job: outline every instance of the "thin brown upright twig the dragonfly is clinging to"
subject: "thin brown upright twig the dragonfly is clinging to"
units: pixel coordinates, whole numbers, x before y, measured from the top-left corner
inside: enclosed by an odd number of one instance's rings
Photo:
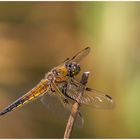
[[[89,72],[84,72],[82,75],[81,81],[80,81],[81,84],[80,84],[78,91],[77,91],[79,93],[79,96],[76,99],[77,102],[75,102],[71,108],[71,113],[70,113],[70,116],[69,116],[69,119],[67,122],[65,133],[64,133],[64,139],[70,138],[70,135],[72,133],[74,122],[75,122],[75,119],[77,117],[77,112],[78,112],[79,107],[80,107],[80,98],[81,98],[81,96],[83,96],[84,89],[85,89],[85,86],[86,86],[87,81],[88,81],[88,77],[89,77]]]

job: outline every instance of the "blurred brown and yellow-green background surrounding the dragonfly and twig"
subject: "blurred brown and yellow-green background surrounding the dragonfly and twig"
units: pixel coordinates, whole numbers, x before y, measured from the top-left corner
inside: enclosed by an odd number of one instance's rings
[[[72,138],[140,138],[139,2],[0,2],[0,109],[86,46],[88,85],[116,106],[81,107]],[[0,118],[0,138],[63,138],[65,125],[36,100]]]

